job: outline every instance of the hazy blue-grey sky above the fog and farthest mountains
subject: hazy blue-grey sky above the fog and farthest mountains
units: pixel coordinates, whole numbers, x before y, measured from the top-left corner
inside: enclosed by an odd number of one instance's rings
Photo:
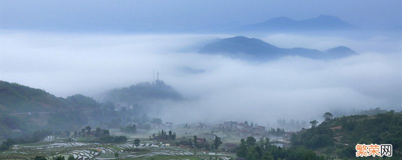
[[[2,29],[203,30],[287,16],[338,16],[365,28],[402,25],[401,0],[1,0]]]

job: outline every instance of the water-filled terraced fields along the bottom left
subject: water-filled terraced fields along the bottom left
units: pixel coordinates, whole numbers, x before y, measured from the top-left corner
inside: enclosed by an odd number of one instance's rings
[[[115,153],[119,156],[116,157]],[[75,159],[230,159],[234,154],[206,152],[177,146],[166,146],[161,142],[143,141],[137,147],[133,142],[88,143],[66,142],[60,139],[46,140],[38,144],[14,145],[8,151],[0,152],[0,159],[33,159],[37,155],[51,159],[73,155]]]

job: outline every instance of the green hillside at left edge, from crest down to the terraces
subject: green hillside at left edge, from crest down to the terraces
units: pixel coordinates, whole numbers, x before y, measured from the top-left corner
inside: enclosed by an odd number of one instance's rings
[[[37,129],[79,129],[101,114],[100,106],[81,94],[56,97],[42,89],[0,80],[0,139]]]

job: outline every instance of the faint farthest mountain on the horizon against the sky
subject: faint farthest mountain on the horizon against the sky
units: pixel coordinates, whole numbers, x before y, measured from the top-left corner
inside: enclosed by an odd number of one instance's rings
[[[240,31],[317,31],[317,30],[342,30],[356,29],[352,25],[336,16],[320,15],[305,20],[293,20],[287,17],[276,17],[264,22],[244,25]]]

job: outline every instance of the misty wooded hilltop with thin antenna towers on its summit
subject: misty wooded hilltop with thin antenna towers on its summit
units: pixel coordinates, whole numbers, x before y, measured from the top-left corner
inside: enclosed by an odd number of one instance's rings
[[[128,102],[130,104],[142,103],[149,100],[181,100],[183,97],[170,85],[162,80],[155,80],[154,83],[141,82],[129,87],[115,88],[103,95],[106,101]]]

